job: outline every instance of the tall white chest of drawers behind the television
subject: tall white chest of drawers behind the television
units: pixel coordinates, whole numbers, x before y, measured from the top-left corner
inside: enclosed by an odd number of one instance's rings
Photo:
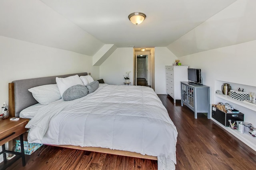
[[[174,103],[181,99],[180,82],[188,81],[188,66],[165,66],[166,94],[169,94]]]

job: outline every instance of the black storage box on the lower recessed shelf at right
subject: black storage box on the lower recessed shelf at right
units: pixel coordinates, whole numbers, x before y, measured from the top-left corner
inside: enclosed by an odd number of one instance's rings
[[[215,111],[216,110],[216,111]],[[236,109],[232,111],[238,111]],[[244,113],[224,113],[216,107],[212,106],[212,118],[220,122],[224,126],[229,126],[229,121],[233,123],[234,121],[244,121]]]

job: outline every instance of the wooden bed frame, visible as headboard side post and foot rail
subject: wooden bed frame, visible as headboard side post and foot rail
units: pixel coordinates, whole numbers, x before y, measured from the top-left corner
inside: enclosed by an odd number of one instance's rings
[[[14,98],[13,82],[9,83],[9,115],[10,117],[15,117],[15,98]],[[9,143],[9,144],[13,145],[12,143]],[[157,160],[157,156],[142,155],[140,153],[123,151],[123,150],[114,150],[114,149],[100,148],[100,147],[80,147],[80,146],[73,146],[73,145],[52,145],[52,146]]]

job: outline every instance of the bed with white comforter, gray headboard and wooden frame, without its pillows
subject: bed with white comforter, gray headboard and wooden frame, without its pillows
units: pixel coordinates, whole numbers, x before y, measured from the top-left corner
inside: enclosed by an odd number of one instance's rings
[[[145,86],[102,84],[82,98],[38,106],[28,89],[56,84],[56,77],[9,83],[10,116],[37,106],[28,141],[72,149],[158,160],[175,169],[177,131],[155,92]],[[78,73],[86,76],[87,73]],[[47,124],[47,125],[46,125]]]

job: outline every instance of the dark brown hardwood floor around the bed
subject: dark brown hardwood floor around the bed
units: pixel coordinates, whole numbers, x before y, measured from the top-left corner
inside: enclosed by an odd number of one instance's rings
[[[177,127],[176,170],[255,170],[256,152],[224,131],[206,115],[176,104],[167,95],[158,95]],[[157,161],[42,146],[26,155],[26,166],[21,159],[8,170],[156,170]]]

